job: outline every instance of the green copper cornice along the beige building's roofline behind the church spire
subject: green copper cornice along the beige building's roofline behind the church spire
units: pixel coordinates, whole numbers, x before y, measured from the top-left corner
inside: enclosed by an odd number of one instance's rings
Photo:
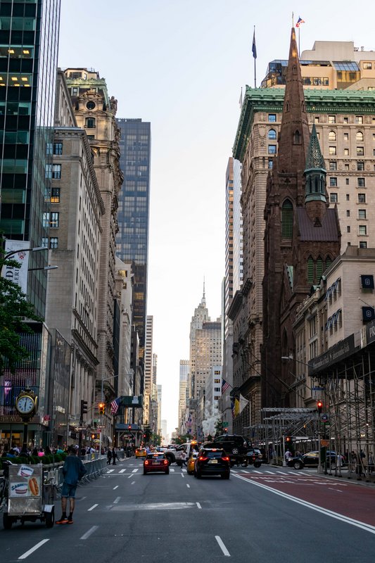
[[[240,162],[250,139],[254,115],[258,111],[281,113],[284,88],[250,88],[246,86],[245,99],[234,141],[233,156]],[[375,115],[374,90],[304,89],[307,113],[361,113]]]

